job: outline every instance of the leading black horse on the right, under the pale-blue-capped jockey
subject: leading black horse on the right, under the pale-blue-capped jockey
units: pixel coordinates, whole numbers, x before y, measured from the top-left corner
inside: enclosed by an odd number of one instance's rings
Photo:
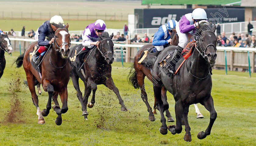
[[[154,86],[154,93],[158,110],[161,113],[162,126],[159,129],[161,134],[167,134],[167,128],[172,134],[181,133],[181,118],[183,116],[186,131],[183,139],[191,141],[190,127],[187,120],[189,106],[201,103],[210,112],[210,123],[205,132],[199,132],[197,137],[203,139],[210,135],[212,125],[217,117],[211,96],[212,78],[209,71],[209,65],[213,67],[217,57],[215,29],[215,25],[211,27],[209,24],[199,27],[198,36],[200,38],[195,37],[197,38],[197,43],[196,47],[192,48],[193,54],[187,58],[180,71],[173,78],[166,75],[166,70],[159,66],[158,63],[165,59],[176,47],[170,46],[168,49],[166,48],[156,58],[152,74],[155,74],[153,78],[158,81]],[[169,108],[169,104],[164,98],[161,99],[162,85],[172,93],[175,99],[176,125],[168,127],[166,126],[163,112]]]

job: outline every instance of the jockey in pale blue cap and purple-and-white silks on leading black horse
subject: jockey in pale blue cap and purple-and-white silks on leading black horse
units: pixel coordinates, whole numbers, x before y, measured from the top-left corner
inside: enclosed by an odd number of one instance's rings
[[[176,31],[179,36],[179,44],[172,56],[169,57],[166,62],[168,65],[167,69],[170,73],[175,74],[175,65],[181,59],[181,53],[183,48],[187,45],[188,35],[194,35],[196,33],[196,29],[199,28],[199,25],[203,25],[204,23],[208,23],[207,15],[204,9],[197,8],[194,9],[192,13],[185,14],[180,21],[179,25],[176,26]]]

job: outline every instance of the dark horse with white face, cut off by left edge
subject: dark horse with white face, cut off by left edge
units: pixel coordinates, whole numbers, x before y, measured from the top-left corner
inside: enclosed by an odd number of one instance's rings
[[[5,52],[12,54],[11,41],[7,34],[0,34],[0,78],[2,77],[5,69]]]

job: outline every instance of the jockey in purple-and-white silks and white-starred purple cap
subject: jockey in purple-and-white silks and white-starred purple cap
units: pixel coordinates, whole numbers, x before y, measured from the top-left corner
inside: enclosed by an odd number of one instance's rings
[[[86,48],[93,48],[94,45],[99,44],[98,37],[106,29],[106,24],[103,20],[98,19],[94,23],[89,24],[82,35],[82,45]],[[84,49],[83,49],[84,50]]]

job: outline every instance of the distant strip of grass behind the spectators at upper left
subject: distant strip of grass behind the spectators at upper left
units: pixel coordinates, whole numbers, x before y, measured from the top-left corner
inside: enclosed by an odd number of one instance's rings
[[[3,31],[10,31],[13,29],[14,31],[21,31],[23,26],[26,26],[25,31],[30,31],[33,29],[37,30],[39,26],[41,26],[46,20],[1,20],[0,29]],[[84,30],[87,25],[90,23],[94,23],[95,20],[64,20],[64,23],[69,23],[69,30]],[[105,21],[107,28],[112,29],[123,29],[124,23],[127,21]]]

